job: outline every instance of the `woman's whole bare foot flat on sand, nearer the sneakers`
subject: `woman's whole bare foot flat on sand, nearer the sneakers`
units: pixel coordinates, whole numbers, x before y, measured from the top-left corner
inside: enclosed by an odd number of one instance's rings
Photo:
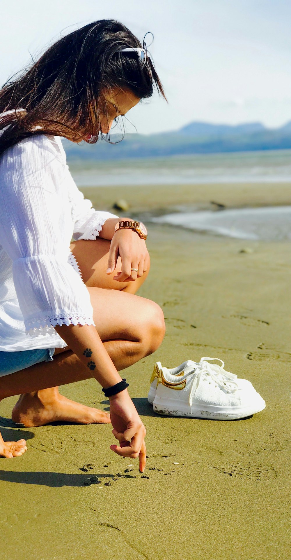
[[[66,399],[59,394],[58,388],[20,395],[11,417],[13,422],[24,424],[26,427],[44,426],[50,422],[110,423],[108,412]]]

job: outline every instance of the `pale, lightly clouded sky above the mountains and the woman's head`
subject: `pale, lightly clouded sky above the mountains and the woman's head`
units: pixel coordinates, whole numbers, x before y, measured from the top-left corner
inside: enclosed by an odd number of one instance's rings
[[[291,120],[288,0],[0,0],[0,82],[64,35],[113,18],[149,51],[168,103],[155,93],[125,119],[128,132],[176,130],[194,120],[270,128]],[[151,40],[151,36],[147,35]]]

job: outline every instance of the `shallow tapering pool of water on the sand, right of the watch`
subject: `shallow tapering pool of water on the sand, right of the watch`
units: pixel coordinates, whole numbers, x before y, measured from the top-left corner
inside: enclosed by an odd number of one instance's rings
[[[152,222],[246,240],[291,240],[291,206],[175,212]]]

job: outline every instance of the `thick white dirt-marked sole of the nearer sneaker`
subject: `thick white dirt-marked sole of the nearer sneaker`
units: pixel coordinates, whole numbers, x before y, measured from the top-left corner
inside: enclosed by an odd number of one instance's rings
[[[156,397],[152,406],[157,414],[162,414],[163,416],[204,418],[207,420],[238,420],[239,418],[246,418],[247,416],[252,416],[252,414],[261,412],[261,410],[264,410],[266,403],[262,399],[257,405],[253,404],[252,406],[240,408],[222,408],[215,405],[193,404],[192,412],[190,412],[189,405],[183,406],[183,403],[176,400],[169,402],[169,400],[165,401],[164,399]]]

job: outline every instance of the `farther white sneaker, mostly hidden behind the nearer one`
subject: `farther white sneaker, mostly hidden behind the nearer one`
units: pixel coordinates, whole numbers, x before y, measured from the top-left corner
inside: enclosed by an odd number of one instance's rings
[[[156,396],[156,387],[158,385],[158,379],[160,377],[161,370],[167,371],[170,375],[174,375],[176,377],[182,377],[183,375],[188,374],[190,371],[193,371],[195,367],[201,365],[201,362],[205,360],[218,360],[223,363],[219,358],[202,358],[200,362],[193,362],[193,360],[188,360],[187,362],[180,363],[179,366],[168,368],[161,365],[161,362],[156,362],[154,365],[154,370],[152,371],[151,380],[150,380],[150,390],[147,395],[147,400],[150,404],[152,404],[155,400]],[[223,363],[224,366],[224,363]],[[240,389],[247,389],[249,391],[255,391],[254,386],[251,384],[250,381],[247,379],[241,379],[237,377],[235,374],[231,374],[230,371],[226,371],[223,369],[223,366],[217,366],[215,368],[216,375],[220,377],[222,381],[228,381],[230,379],[236,380],[237,385]],[[211,366],[214,371],[214,364]]]

